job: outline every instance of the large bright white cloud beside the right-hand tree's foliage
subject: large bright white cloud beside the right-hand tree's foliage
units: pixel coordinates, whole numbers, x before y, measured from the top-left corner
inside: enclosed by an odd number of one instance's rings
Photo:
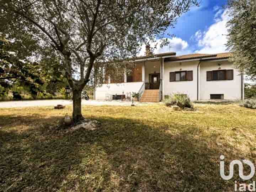
[[[216,13],[215,23],[212,24],[206,31],[197,32],[193,36],[198,37],[199,50],[196,52],[200,53],[220,53],[226,51],[226,35],[227,28],[226,23],[229,21],[228,11],[225,10],[219,17],[219,11]],[[201,35],[201,37],[200,37]]]

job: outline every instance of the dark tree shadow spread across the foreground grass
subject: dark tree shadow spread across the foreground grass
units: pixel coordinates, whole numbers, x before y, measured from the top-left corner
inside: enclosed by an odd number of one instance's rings
[[[201,133],[196,127],[163,122],[159,129],[128,118],[97,120],[101,127],[94,131],[56,132],[48,124],[21,132],[0,130],[1,190],[232,191],[232,182],[219,175],[225,149],[195,137]]]

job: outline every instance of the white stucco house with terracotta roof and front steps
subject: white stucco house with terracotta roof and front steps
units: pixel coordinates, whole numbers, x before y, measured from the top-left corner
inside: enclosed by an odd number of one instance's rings
[[[141,102],[159,102],[171,94],[186,94],[191,100],[243,100],[244,77],[229,62],[232,53],[176,56],[167,52],[137,57],[132,74],[123,81],[108,77],[95,89],[95,99],[128,97],[139,92]]]

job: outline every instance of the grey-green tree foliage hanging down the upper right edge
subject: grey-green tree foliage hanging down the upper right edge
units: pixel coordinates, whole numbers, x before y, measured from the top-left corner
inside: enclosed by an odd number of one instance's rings
[[[231,61],[241,72],[256,79],[256,1],[230,0],[228,49],[234,53]]]

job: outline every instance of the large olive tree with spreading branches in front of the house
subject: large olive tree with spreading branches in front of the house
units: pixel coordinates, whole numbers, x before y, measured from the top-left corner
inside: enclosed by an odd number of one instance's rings
[[[135,56],[142,43],[162,38],[193,5],[197,0],[2,0],[0,24],[13,38],[31,34],[41,49],[60,58],[78,122],[81,91],[96,61]]]

